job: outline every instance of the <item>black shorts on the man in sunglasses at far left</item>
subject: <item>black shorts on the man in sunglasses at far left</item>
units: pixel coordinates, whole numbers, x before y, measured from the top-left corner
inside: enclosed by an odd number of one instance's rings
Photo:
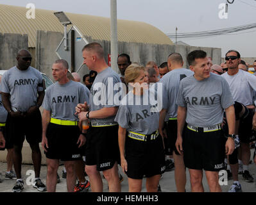
[[[13,118],[8,113],[5,126],[6,149],[13,145],[22,146],[25,136],[31,145],[42,141],[42,117],[37,109],[30,117]]]

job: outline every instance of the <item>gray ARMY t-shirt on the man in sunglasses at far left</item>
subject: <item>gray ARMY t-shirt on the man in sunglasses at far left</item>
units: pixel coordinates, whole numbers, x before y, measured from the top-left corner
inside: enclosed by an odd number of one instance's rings
[[[33,67],[27,70],[12,67],[4,72],[0,86],[1,92],[10,94],[11,106],[22,112],[36,105],[37,92],[43,90],[42,74]]]

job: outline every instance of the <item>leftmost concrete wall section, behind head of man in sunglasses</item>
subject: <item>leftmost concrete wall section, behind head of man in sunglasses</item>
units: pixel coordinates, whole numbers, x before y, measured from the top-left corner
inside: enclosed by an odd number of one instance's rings
[[[8,70],[16,65],[19,49],[28,49],[28,35],[0,33],[0,70]]]

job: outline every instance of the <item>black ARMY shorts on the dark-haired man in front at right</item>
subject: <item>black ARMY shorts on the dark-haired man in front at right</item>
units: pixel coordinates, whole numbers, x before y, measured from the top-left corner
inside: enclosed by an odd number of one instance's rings
[[[197,133],[185,127],[182,143],[185,167],[213,172],[223,170],[225,142],[222,130]]]

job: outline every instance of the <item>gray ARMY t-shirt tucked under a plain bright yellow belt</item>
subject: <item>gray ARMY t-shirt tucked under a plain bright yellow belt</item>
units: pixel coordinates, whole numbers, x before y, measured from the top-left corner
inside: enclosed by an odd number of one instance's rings
[[[78,103],[89,102],[89,89],[81,83],[69,81],[64,85],[56,82],[46,89],[42,107],[51,111],[51,117],[60,120],[78,121],[74,116]]]

